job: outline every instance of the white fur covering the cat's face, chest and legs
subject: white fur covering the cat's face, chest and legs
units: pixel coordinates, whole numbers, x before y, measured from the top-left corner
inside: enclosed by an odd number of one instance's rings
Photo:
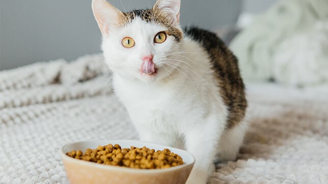
[[[244,128],[224,132],[227,107],[204,49],[189,38],[177,43],[173,36],[162,44],[153,43],[164,30],[137,18],[103,38],[104,56],[114,72],[116,95],[140,139],[188,150],[196,163],[187,183],[206,183],[215,155],[225,156],[223,160],[236,157]],[[130,49],[121,45],[127,36],[135,40]],[[165,55],[168,52],[175,54]],[[140,73],[142,58],[149,54],[154,54],[156,76]],[[167,59],[174,59],[179,70],[167,65]],[[220,142],[228,151],[222,150]]]

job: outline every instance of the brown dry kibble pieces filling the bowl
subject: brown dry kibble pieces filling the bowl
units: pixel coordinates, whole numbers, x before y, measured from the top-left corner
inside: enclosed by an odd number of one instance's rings
[[[121,148],[119,144],[88,148],[83,154],[80,150],[72,150],[67,156],[105,165],[123,166],[138,169],[162,169],[183,164],[182,158],[170,149],[149,149],[146,146],[139,148]]]

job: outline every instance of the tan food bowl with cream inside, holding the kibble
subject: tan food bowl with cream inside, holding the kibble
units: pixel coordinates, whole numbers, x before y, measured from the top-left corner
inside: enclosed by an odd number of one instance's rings
[[[98,145],[119,144],[122,148],[131,145],[146,146],[150,149],[170,149],[183,159],[183,164],[166,169],[132,169],[78,160],[66,155],[71,150],[85,151],[87,148],[97,148]],[[137,140],[105,140],[81,141],[68,143],[60,150],[65,171],[70,183],[185,183],[195,163],[195,158],[189,152],[174,147]]]

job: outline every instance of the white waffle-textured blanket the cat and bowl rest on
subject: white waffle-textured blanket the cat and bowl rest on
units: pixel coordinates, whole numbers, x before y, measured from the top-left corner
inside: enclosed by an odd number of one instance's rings
[[[0,183],[68,183],[62,145],[138,139],[101,60],[94,55],[0,72]],[[208,182],[328,183],[327,93],[247,87],[250,128],[238,160],[218,164]]]

